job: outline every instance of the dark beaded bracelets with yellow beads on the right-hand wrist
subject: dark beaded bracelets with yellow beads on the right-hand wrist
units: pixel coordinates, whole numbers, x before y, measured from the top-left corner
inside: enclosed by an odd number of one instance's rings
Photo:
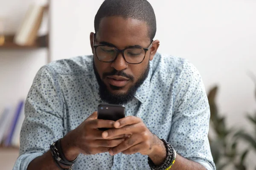
[[[154,162],[148,157],[148,165],[151,170],[169,170],[172,165],[175,163],[176,151],[166,140],[161,139],[166,147],[166,159],[163,164],[156,166]]]

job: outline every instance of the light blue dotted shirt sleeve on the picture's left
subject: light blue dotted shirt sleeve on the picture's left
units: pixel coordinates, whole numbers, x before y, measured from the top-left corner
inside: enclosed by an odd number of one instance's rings
[[[35,76],[25,102],[20,131],[20,154],[13,170],[26,170],[29,163],[63,137],[63,107],[55,77],[44,66]]]

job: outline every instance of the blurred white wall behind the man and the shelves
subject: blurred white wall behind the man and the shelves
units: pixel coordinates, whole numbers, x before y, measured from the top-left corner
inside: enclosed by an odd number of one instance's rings
[[[35,1],[0,0],[0,16],[7,18],[7,32],[16,31]],[[256,110],[254,84],[247,74],[256,74],[256,1],[148,1],[157,17],[159,52],[189,59],[201,73],[206,91],[219,85],[217,102],[227,124],[247,127],[244,113]],[[102,2],[51,1],[52,60],[91,54],[89,35]],[[46,30],[44,22],[41,32]],[[46,49],[0,50],[0,110],[26,98],[36,72],[47,63],[46,55]]]

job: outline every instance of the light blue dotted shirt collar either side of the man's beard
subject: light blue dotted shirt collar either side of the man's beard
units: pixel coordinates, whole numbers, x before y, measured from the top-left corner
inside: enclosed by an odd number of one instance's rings
[[[93,64],[93,63],[92,63]],[[148,77],[145,79],[142,85],[137,89],[134,97],[138,99],[141,103],[144,103],[145,100],[148,98],[148,94],[150,92],[150,79],[152,76],[152,68],[151,68],[151,62],[149,64],[149,73]],[[97,100],[101,100],[99,95],[99,84],[96,79],[96,75],[94,74],[93,67],[90,71],[90,77],[89,81],[91,82],[91,85],[93,86],[93,94],[96,97]]]

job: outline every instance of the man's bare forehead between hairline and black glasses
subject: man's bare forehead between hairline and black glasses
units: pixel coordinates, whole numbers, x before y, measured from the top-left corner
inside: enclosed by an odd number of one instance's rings
[[[133,45],[146,47],[150,43],[147,23],[132,18],[102,18],[96,36],[98,42],[110,42],[119,49]]]

